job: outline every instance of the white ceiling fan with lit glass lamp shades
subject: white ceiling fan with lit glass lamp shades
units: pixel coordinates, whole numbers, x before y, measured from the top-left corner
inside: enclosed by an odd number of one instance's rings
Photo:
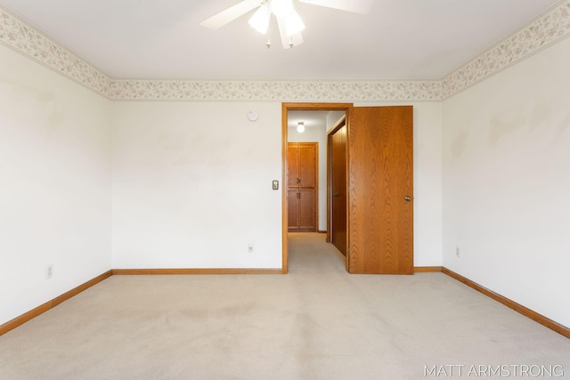
[[[301,3],[326,6],[340,11],[367,13],[371,9],[374,0],[299,0]],[[223,27],[232,20],[256,9],[249,19],[249,25],[258,32],[265,34],[269,28],[271,15],[277,19],[281,43],[284,49],[303,43],[301,31],[305,24],[295,11],[293,0],[242,0],[226,10],[215,14],[207,20],[200,22],[202,27],[217,29]],[[271,47],[271,41],[267,38],[267,48]]]

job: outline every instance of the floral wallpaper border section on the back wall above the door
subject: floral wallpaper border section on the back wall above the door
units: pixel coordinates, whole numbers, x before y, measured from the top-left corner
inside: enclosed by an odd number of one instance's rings
[[[116,101],[439,101],[441,82],[117,79]]]

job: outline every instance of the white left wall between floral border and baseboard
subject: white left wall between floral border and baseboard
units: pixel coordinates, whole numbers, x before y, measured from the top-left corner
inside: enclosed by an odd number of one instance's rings
[[[0,45],[0,324],[110,270],[109,117]]]

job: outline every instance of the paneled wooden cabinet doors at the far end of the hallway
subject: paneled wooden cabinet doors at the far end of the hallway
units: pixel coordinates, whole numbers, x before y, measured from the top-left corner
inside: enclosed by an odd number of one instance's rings
[[[318,144],[288,144],[288,230],[316,232],[318,191]]]

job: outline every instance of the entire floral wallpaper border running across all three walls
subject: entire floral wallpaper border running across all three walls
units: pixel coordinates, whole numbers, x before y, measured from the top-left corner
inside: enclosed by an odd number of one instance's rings
[[[1,44],[112,101],[442,101],[567,36],[570,36],[570,0],[563,0],[442,79],[111,78],[0,5]]]

